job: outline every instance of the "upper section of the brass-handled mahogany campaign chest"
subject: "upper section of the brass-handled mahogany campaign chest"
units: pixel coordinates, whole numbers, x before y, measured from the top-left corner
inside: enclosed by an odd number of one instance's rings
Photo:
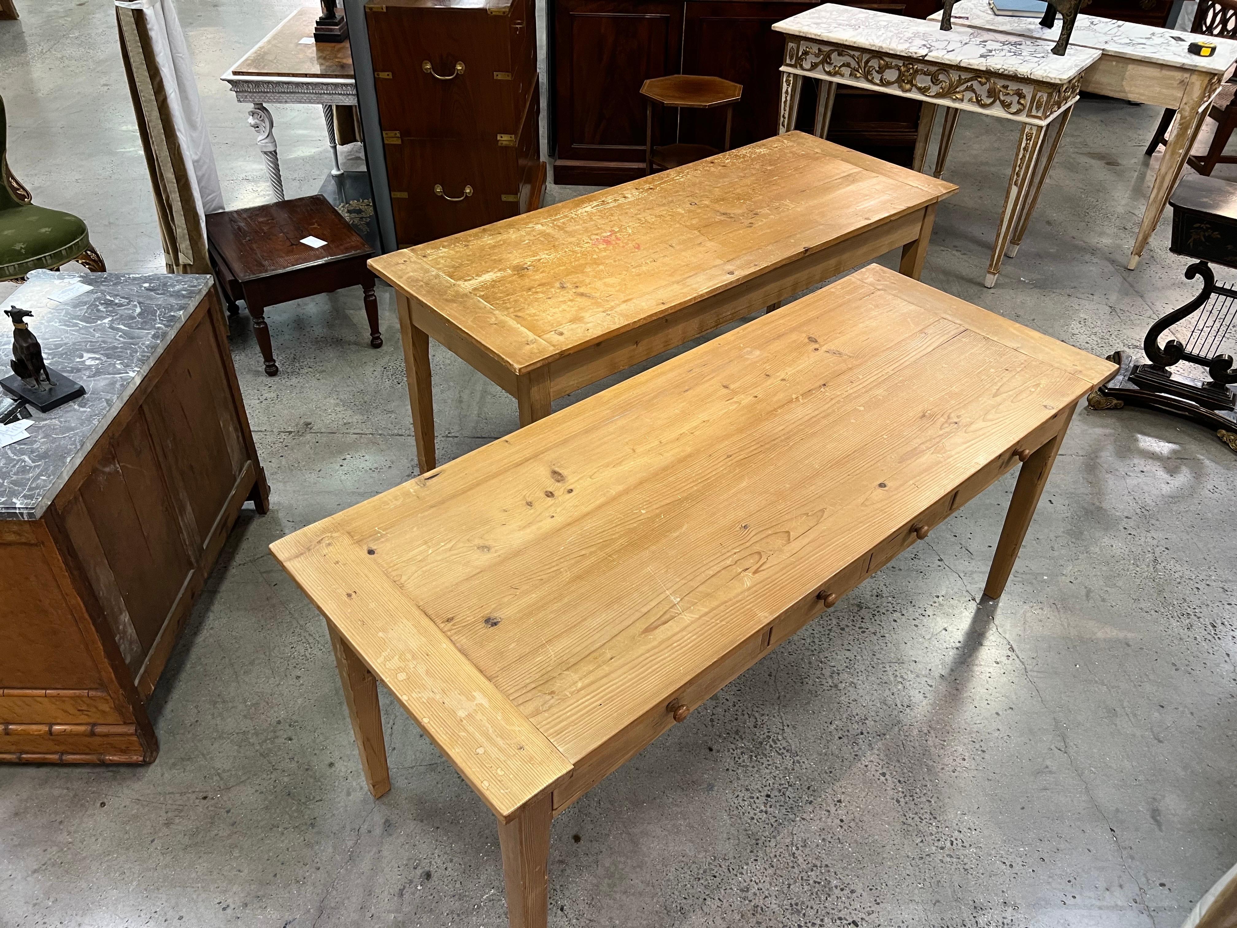
[[[522,12],[388,5],[370,11],[367,21],[383,132],[411,139],[515,132],[537,80],[536,45],[523,37],[531,24]]]

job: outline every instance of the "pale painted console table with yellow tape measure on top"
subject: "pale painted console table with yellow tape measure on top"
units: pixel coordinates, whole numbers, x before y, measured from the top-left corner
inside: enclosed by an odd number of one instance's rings
[[[940,14],[935,14],[940,16]],[[1044,28],[1038,19],[997,16],[988,0],[962,0],[954,6],[955,25],[967,28],[1009,33],[1039,42],[1056,41],[1058,26]],[[1098,16],[1079,14],[1070,37],[1071,48],[1094,48],[1100,59],[1082,75],[1082,89],[1133,103],[1166,106],[1178,113],[1164,157],[1160,160],[1152,191],[1138,226],[1134,247],[1126,265],[1133,270],[1155,231],[1164,207],[1181,178],[1190,148],[1207,121],[1211,100],[1233,71],[1237,41],[1205,37],[1216,46],[1215,54],[1202,58],[1190,54],[1190,33],[1171,28],[1141,26]]]

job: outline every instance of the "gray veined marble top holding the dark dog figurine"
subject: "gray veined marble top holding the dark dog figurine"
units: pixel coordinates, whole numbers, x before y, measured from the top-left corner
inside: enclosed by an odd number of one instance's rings
[[[93,290],[63,303],[48,293],[82,281]],[[0,448],[0,518],[41,518],[64,481],[141,384],[189,312],[213,285],[202,275],[54,273],[32,271],[2,302],[32,309],[27,319],[49,367],[87,393],[46,415],[31,410],[30,438]],[[11,325],[0,335],[7,375]],[[9,405],[5,395],[4,407]]]

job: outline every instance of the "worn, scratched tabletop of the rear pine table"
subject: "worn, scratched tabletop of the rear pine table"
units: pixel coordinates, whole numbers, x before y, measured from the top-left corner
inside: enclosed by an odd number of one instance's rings
[[[459,334],[522,374],[956,189],[789,132],[370,267],[430,311],[460,307],[444,311]]]

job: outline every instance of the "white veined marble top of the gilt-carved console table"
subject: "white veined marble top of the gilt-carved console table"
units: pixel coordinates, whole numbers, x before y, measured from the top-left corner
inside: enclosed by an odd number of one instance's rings
[[[1050,84],[1064,84],[1100,58],[1092,48],[1074,46],[1064,56],[1053,54],[1043,42],[969,28],[956,20],[952,30],[941,32],[935,22],[837,4],[823,4],[782,20],[773,28],[852,48]]]

